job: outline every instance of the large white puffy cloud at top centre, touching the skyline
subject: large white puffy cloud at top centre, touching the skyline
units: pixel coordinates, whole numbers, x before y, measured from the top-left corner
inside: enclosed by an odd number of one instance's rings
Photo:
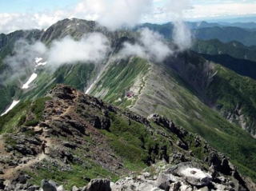
[[[151,13],[152,5],[153,0],[82,0],[75,12],[115,30],[138,24],[143,15]]]

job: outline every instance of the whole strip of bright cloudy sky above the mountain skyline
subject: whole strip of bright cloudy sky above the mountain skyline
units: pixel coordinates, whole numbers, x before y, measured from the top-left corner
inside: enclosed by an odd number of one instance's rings
[[[127,2],[133,10],[126,9]],[[143,12],[149,2],[153,11]],[[163,23],[176,8],[184,20],[246,17],[256,15],[256,0],[0,0],[0,33],[46,29],[64,18]]]

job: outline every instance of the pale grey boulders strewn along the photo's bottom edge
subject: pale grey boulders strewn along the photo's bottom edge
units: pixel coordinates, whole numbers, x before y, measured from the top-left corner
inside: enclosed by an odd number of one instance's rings
[[[234,172],[235,173],[235,172]],[[178,165],[170,165],[159,162],[156,165],[144,169],[140,174],[131,174],[118,181],[111,182],[108,179],[93,179],[86,186],[78,188],[73,186],[71,191],[234,191],[247,190],[239,185],[239,181],[233,177],[226,177],[214,170],[198,166],[193,162],[182,162]],[[41,186],[22,184],[26,176],[18,177],[19,183],[14,190],[43,190],[43,191],[65,191],[63,185],[54,181],[42,180]],[[25,181],[24,181],[25,182]],[[7,186],[8,187],[8,186]],[[13,189],[4,189],[13,190]],[[253,190],[253,189],[252,189]]]

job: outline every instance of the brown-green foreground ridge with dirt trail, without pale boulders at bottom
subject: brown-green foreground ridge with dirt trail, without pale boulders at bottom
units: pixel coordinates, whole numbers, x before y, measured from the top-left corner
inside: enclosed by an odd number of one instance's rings
[[[40,108],[38,105],[41,105]],[[244,181],[227,158],[212,149],[202,137],[188,133],[157,114],[146,119],[63,85],[54,87],[47,97],[24,106],[22,110],[26,109],[26,113],[19,114],[18,126],[12,129],[11,133],[4,134],[5,138],[2,139],[2,149],[6,150],[5,156],[15,153],[14,158],[11,159],[12,165],[8,165],[9,157],[1,161],[4,173],[0,176],[9,180],[9,183],[4,184],[6,189],[23,186],[25,182],[38,185],[43,178],[56,178],[55,181],[59,184],[66,183],[67,188],[73,185],[81,186],[86,182],[83,180],[85,174],[88,182],[98,170],[101,172],[99,177],[111,176],[111,179],[115,180],[118,174],[126,174],[127,169],[129,172],[134,168],[146,167],[140,162],[150,165],[161,159],[164,159],[167,164],[171,161],[170,166],[178,163],[180,166],[186,166],[181,161],[193,161],[191,167],[206,170],[212,165],[216,174],[214,176],[225,175],[234,182],[234,188],[250,190],[248,188],[253,186],[252,182]],[[7,114],[7,117],[10,114]],[[38,117],[38,123],[30,123],[31,117]],[[8,122],[10,121],[6,121]],[[133,131],[134,128],[137,129],[136,132]],[[138,131],[138,129],[141,130]],[[140,137],[141,133],[143,138]],[[132,140],[130,140],[131,135],[134,136]],[[115,136],[118,136],[118,139],[115,139]],[[154,137],[154,141],[150,141],[151,137]],[[122,147],[123,142],[118,141],[119,139],[124,139],[126,146]],[[121,145],[116,145],[115,140]],[[42,141],[46,141],[47,145],[45,154],[41,153],[39,148]],[[86,152],[86,156],[82,154],[84,149],[90,150],[89,153]],[[130,149],[133,149],[132,153]],[[145,158],[141,158],[142,155],[137,155],[136,152],[145,152]],[[208,159],[203,161],[204,157]],[[138,163],[131,165],[126,160],[130,162],[138,160]],[[22,165],[22,161],[26,161],[24,163],[26,165]],[[98,169],[99,165],[102,169]],[[55,169],[56,166],[57,169]],[[59,168],[62,170],[58,171]],[[78,173],[77,169],[82,171],[82,174]],[[25,176],[24,173],[27,175]],[[73,176],[68,176],[69,173]],[[213,179],[212,186],[226,188],[228,185],[217,183],[218,178],[216,183]],[[183,184],[190,186],[185,182],[182,182]],[[207,187],[209,183],[191,184],[196,190],[197,186]],[[30,186],[35,187],[35,185]],[[29,186],[25,188],[29,189]]]

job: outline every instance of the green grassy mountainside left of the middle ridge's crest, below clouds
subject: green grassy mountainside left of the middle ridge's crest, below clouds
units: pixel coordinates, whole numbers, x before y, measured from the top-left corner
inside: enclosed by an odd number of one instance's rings
[[[126,91],[134,85],[139,76],[145,76],[150,66],[146,60],[131,58],[129,62],[121,60],[111,63],[108,70],[102,74],[102,79],[93,88],[91,94],[121,107],[131,104],[126,97]],[[118,98],[125,101],[118,101]]]

